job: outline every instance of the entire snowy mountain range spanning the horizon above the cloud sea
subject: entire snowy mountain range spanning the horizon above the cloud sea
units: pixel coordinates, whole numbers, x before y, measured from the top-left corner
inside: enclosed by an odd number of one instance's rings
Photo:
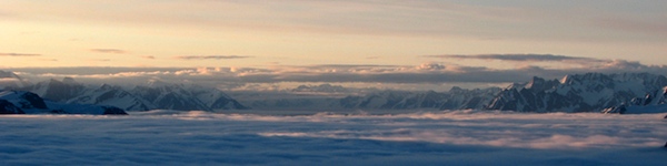
[[[122,87],[86,85],[70,77],[31,84],[0,71],[0,87],[32,92],[48,101],[110,105],[127,111],[180,110],[499,110],[517,112],[633,113],[638,108],[667,112],[667,77],[648,73],[566,75],[560,80],[535,76],[508,87],[448,92],[368,91],[362,94],[338,85],[299,86],[286,93],[236,93],[199,85],[149,81]],[[336,95],[320,95],[328,93]],[[232,97],[233,96],[233,97]],[[238,100],[237,100],[238,98]]]

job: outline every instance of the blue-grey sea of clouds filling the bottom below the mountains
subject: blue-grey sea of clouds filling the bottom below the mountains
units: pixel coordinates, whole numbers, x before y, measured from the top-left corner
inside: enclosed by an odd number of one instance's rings
[[[664,114],[0,116],[0,165],[667,165]]]

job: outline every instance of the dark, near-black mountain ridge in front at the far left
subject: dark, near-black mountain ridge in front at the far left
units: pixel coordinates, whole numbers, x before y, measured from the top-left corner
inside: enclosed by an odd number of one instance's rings
[[[66,104],[46,101],[39,95],[24,91],[0,91],[0,114],[93,114],[127,115],[115,106],[92,104]]]

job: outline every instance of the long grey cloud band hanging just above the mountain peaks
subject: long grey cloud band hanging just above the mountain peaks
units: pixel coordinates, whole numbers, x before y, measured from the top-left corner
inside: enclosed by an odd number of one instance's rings
[[[193,60],[236,59],[246,56],[195,56]],[[10,69],[33,82],[47,79],[74,77],[90,83],[145,83],[161,80],[172,83],[197,83],[235,89],[249,84],[276,83],[376,83],[376,84],[508,84],[525,82],[532,76],[560,79],[580,73],[667,73],[667,66],[645,65],[625,60],[598,60],[565,55],[442,55],[435,58],[481,59],[520,62],[510,69],[465,66],[460,64],[424,63],[420,65],[273,65],[271,68],[23,68]],[[540,66],[559,63],[567,68]],[[501,62],[502,63],[502,62]],[[576,64],[576,65],[574,65]]]

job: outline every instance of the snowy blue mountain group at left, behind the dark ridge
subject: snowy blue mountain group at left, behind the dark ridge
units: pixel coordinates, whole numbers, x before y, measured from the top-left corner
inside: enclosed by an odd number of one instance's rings
[[[217,89],[155,81],[146,85],[123,89],[108,84],[84,85],[71,77],[64,77],[62,81],[51,79],[33,85],[10,89],[33,92],[56,102],[111,105],[127,111],[247,108]]]

